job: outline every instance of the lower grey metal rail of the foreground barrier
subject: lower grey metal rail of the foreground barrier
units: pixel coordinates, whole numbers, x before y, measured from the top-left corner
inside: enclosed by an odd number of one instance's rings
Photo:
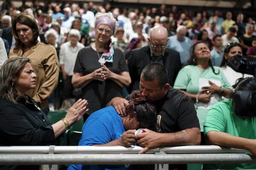
[[[0,164],[192,164],[192,163],[256,163],[245,153],[189,154],[32,154],[1,155]]]

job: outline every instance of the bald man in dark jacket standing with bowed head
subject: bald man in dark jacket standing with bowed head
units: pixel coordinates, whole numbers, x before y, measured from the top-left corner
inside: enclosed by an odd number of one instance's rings
[[[150,38],[147,45],[131,51],[128,59],[128,68],[131,76],[131,84],[128,91],[139,90],[140,74],[143,68],[150,63],[163,65],[168,73],[169,85],[173,86],[178,72],[181,69],[180,54],[170,48],[166,48],[168,32],[163,26],[154,26],[150,30]]]

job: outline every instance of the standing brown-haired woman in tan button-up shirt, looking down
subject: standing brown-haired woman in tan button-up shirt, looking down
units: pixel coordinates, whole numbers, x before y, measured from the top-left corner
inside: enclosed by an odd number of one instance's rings
[[[12,24],[16,47],[10,50],[9,57],[22,56],[30,59],[37,81],[36,87],[27,94],[32,96],[47,114],[48,99],[58,84],[59,66],[56,50],[51,45],[38,42],[38,24],[30,15],[20,13]]]

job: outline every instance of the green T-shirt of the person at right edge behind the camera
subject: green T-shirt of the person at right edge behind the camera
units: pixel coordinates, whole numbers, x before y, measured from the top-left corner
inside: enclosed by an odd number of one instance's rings
[[[256,139],[256,117],[236,116],[232,100],[213,105],[205,118],[204,136],[215,130],[247,139]],[[256,169],[256,164],[204,164],[204,169]]]

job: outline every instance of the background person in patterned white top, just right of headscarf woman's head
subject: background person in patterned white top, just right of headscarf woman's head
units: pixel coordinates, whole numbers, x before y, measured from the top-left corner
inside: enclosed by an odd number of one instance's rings
[[[128,41],[126,39],[124,39],[124,29],[123,28],[118,28],[116,30],[116,34],[114,35],[114,37],[111,37],[112,39],[112,44],[114,48],[119,48],[122,51],[125,51],[125,48],[127,46]]]

